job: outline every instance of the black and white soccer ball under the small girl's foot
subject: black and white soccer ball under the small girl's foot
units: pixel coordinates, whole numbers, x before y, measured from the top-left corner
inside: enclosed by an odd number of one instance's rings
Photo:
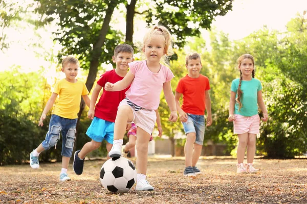
[[[113,193],[126,193],[137,181],[135,165],[124,157],[107,160],[100,170],[100,182]]]

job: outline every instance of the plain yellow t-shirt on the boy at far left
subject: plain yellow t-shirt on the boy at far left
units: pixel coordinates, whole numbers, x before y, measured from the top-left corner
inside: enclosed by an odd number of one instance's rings
[[[62,79],[55,84],[53,93],[59,94],[53,114],[62,118],[76,119],[80,110],[81,96],[89,94],[89,91],[81,81],[71,83]]]

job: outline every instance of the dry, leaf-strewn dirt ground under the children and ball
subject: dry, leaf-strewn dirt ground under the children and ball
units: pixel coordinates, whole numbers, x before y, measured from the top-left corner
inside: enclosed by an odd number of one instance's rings
[[[136,160],[130,159],[136,164]],[[202,174],[184,177],[184,158],[151,157],[147,180],[154,191],[112,194],[99,180],[105,160],[85,161],[82,175],[59,182],[61,163],[0,167],[1,203],[307,203],[307,160],[256,159],[255,174],[237,174],[236,160],[204,157]]]

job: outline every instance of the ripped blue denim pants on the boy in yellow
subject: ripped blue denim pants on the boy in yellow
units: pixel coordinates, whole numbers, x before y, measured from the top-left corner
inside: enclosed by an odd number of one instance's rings
[[[76,135],[76,119],[62,118],[58,115],[52,115],[49,122],[49,130],[46,134],[46,138],[42,141],[42,147],[45,150],[55,146],[60,139],[60,132],[62,134],[62,153],[64,157],[71,157],[74,147],[75,135]]]

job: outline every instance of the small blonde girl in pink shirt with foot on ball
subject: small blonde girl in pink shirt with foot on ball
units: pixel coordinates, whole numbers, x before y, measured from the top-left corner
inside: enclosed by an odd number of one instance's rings
[[[171,70],[160,64],[161,58],[173,54],[169,31],[163,26],[152,27],[144,36],[142,51],[146,60],[129,63],[130,70],[125,78],[115,84],[106,83],[106,91],[120,91],[130,85],[126,98],[118,107],[114,125],[114,141],[109,157],[120,157],[127,122],[137,125],[137,187],[136,190],[153,190],[146,181],[147,152],[150,135],[156,121],[156,113],[163,89],[170,109],[169,121],[177,121],[176,104],[170,81]]]

